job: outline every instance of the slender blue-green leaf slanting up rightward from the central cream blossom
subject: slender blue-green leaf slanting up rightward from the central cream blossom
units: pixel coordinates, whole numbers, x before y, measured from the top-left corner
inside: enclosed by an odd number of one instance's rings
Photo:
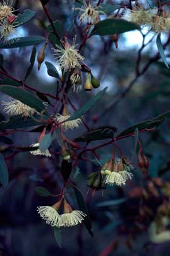
[[[97,101],[104,95],[106,92],[107,87],[101,90],[98,94],[96,94],[90,101],[85,103],[80,109],[75,111],[75,113],[71,114],[70,118],[68,120],[74,120],[77,118],[80,118],[83,114],[85,114],[89,109],[91,109]]]

